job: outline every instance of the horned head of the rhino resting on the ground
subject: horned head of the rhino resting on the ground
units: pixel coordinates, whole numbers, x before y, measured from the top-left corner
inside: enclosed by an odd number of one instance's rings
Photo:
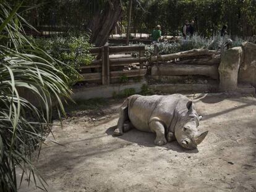
[[[195,149],[203,141],[205,136],[207,136],[208,131],[198,132],[198,122],[202,119],[202,116],[198,117],[192,101],[187,102],[187,109],[188,111],[182,115],[181,120],[175,128],[174,134],[177,142],[182,147]]]

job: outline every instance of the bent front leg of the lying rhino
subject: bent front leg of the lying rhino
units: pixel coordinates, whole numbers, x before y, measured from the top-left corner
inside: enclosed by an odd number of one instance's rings
[[[153,120],[150,122],[150,130],[156,133],[155,144],[164,145],[167,143],[165,134],[164,134],[164,125],[161,122]]]

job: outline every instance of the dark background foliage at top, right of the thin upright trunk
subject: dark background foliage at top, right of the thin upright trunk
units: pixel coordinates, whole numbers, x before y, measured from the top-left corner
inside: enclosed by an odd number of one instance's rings
[[[194,20],[199,35],[211,36],[223,25],[230,35],[252,36],[256,33],[255,0],[141,0],[135,4],[134,20],[143,31],[161,25],[163,33],[178,35],[185,20]]]

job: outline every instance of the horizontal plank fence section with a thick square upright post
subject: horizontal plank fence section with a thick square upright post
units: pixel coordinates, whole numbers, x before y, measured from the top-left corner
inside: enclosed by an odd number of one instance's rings
[[[109,85],[115,80],[124,78],[143,78],[147,69],[143,65],[147,61],[144,57],[145,46],[108,46],[92,48],[91,54],[96,56],[91,65],[81,66],[82,81],[100,81],[102,85]],[[132,57],[131,53],[137,53]],[[120,54],[125,53],[125,54]],[[137,68],[124,68],[129,64],[137,64]]]

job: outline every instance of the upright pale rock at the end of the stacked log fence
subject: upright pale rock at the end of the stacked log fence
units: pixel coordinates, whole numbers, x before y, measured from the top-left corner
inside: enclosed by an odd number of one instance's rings
[[[219,66],[220,91],[236,91],[239,66],[242,63],[242,48],[236,47],[223,52]]]

